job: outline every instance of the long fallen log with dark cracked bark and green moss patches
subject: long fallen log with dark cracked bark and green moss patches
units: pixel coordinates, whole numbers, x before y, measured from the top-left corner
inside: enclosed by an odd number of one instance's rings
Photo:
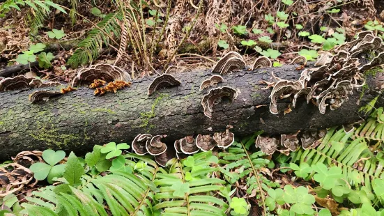
[[[213,117],[203,114],[201,98],[206,90],[199,85],[211,75],[210,70],[178,73],[181,86],[164,88],[151,96],[147,87],[154,77],[137,79],[132,86],[102,96],[93,95],[93,90],[82,87],[49,101],[29,102],[28,91],[0,93],[0,160],[20,151],[53,148],[77,153],[89,151],[95,144],[127,142],[139,133],[167,134],[165,140],[173,144],[175,139],[187,135],[212,134],[233,125],[236,136],[244,136],[263,130],[268,134],[289,134],[298,130],[330,128],[335,125],[360,121],[358,113],[377,95],[377,91],[354,90],[348,102],[335,111],[325,114],[318,107],[303,99],[289,114],[283,110],[289,99],[279,102],[280,114],[269,111],[269,89],[260,81],[272,81],[271,72],[282,79],[298,79],[297,65],[281,68],[261,68],[254,71],[233,72],[224,76],[217,86],[238,88],[240,94],[233,102],[222,100],[215,105]],[[378,81],[378,82],[375,82]],[[381,86],[381,79],[371,79],[371,89]],[[63,87],[63,86],[62,86]],[[57,90],[60,86],[44,88]],[[378,98],[378,105],[383,103]]]

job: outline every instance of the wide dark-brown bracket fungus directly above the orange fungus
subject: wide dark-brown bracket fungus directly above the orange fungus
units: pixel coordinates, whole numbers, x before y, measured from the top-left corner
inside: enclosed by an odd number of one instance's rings
[[[80,70],[72,81],[72,86],[89,85],[95,79],[101,79],[105,82],[114,82],[117,80],[130,81],[130,75],[117,66],[107,63],[92,65],[90,68]]]

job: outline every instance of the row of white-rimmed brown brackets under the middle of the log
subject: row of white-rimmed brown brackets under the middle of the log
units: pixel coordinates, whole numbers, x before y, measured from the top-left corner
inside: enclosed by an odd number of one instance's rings
[[[233,128],[226,127],[224,132],[215,132],[213,136],[198,134],[183,137],[174,141],[174,148],[167,148],[167,144],[161,141],[165,135],[152,136],[151,134],[138,134],[132,141],[132,149],[137,155],[155,156],[156,162],[164,167],[174,157],[183,159],[199,151],[211,151],[213,148],[228,148],[235,141],[234,134],[229,132]]]

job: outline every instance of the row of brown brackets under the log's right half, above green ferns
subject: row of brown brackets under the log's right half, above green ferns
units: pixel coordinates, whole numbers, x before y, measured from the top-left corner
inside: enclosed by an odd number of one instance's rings
[[[281,134],[280,137],[262,137],[259,135],[255,141],[256,148],[263,153],[272,155],[275,151],[289,155],[291,151],[302,148],[315,148],[320,144],[319,139],[325,136],[326,130],[312,132],[298,132],[295,134]]]

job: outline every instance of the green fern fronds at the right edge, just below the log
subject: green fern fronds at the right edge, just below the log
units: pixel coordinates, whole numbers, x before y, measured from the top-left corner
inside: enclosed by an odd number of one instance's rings
[[[309,165],[319,162],[337,164],[349,183],[371,189],[371,181],[384,176],[384,157],[379,149],[384,141],[382,120],[383,108],[379,108],[359,128],[355,128],[355,132],[331,128],[316,148],[292,153],[292,161]]]

